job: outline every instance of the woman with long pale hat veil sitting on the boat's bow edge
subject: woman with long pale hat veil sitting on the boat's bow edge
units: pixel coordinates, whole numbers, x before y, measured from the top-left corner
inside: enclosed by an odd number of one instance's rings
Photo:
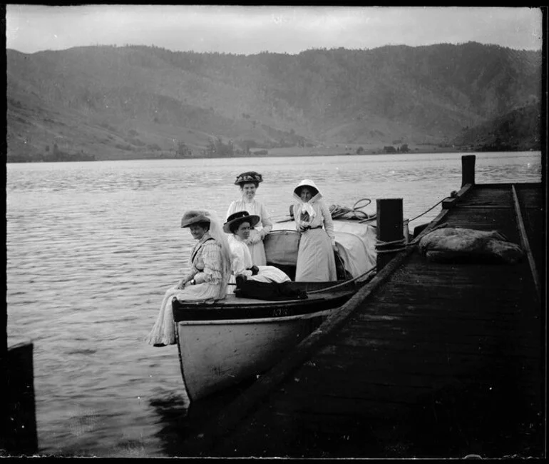
[[[215,214],[205,210],[186,211],[181,227],[189,228],[197,241],[189,256],[189,271],[177,286],[166,291],[160,313],[148,343],[155,346],[173,345],[175,327],[172,298],[185,300],[220,300],[227,295],[232,256],[227,236],[223,233]]]

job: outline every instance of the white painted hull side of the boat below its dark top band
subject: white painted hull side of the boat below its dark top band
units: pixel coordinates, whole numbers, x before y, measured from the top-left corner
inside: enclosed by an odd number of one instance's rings
[[[181,372],[190,400],[264,373],[309,335],[327,312],[289,318],[178,322]]]

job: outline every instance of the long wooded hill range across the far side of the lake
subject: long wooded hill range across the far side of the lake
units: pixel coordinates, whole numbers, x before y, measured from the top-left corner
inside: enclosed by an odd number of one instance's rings
[[[540,51],[474,42],[252,56],[90,46],[6,60],[8,161],[470,145],[541,98]],[[507,121],[508,133],[539,127]],[[505,130],[494,137],[507,143]]]

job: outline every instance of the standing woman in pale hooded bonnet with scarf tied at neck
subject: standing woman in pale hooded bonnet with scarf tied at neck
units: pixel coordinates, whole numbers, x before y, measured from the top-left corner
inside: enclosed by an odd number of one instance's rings
[[[314,182],[304,179],[294,188],[294,220],[301,234],[295,281],[337,281],[334,223]]]

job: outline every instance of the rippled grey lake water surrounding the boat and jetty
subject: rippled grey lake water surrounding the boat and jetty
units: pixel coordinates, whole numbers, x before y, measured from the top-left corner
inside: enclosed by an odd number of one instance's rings
[[[477,183],[541,180],[540,152],[475,154]],[[188,400],[177,348],[144,338],[194,243],[180,228],[183,211],[208,208],[224,220],[240,197],[238,173],[263,174],[257,199],[275,219],[287,218],[302,178],[329,205],[370,198],[373,213],[377,198],[403,198],[405,218],[461,186],[461,153],[6,168],[8,342],[34,343],[43,455],[178,454]]]

